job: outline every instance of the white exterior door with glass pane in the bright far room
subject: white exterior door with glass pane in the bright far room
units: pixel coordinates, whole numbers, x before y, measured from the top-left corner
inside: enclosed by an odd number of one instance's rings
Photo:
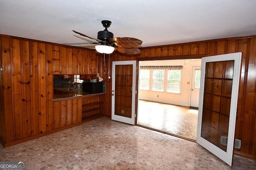
[[[199,104],[200,76],[201,76],[201,66],[193,66],[192,81],[191,81],[191,95],[190,95],[191,107],[198,107],[198,104]]]

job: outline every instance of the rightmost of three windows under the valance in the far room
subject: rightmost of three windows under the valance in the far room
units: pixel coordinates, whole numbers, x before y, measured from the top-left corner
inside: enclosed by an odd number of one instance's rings
[[[180,75],[181,70],[168,70],[167,92],[180,93]]]

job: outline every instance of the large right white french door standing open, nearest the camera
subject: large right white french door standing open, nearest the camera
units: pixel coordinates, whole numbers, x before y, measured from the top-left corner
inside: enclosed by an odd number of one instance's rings
[[[232,166],[242,53],[202,58],[196,142]]]

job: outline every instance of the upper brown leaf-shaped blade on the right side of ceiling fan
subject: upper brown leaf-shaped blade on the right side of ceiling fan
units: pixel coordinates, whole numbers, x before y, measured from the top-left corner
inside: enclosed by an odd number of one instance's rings
[[[116,46],[124,48],[137,48],[142,44],[141,40],[130,37],[115,37],[109,39],[109,41],[115,41]]]

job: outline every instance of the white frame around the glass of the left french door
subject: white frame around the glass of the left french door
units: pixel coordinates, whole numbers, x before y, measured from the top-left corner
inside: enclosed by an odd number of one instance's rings
[[[115,77],[116,65],[132,65],[132,117],[115,115]],[[128,124],[135,124],[136,61],[113,61],[112,63],[112,109],[111,119]]]

